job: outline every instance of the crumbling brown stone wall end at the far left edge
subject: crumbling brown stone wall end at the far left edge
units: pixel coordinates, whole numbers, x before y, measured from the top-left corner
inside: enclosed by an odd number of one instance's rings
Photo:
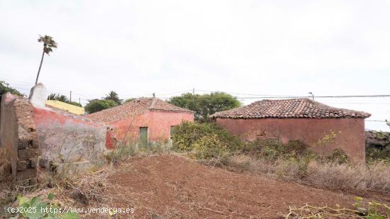
[[[11,165],[14,185],[37,184],[38,134],[33,120],[33,106],[28,99],[4,94],[0,108],[0,162]],[[6,166],[6,165],[4,165]]]

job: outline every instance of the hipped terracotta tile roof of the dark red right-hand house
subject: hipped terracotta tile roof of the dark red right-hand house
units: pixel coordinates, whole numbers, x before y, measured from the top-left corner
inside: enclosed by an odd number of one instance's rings
[[[214,113],[211,118],[367,118],[369,113],[334,108],[311,99],[263,100]]]

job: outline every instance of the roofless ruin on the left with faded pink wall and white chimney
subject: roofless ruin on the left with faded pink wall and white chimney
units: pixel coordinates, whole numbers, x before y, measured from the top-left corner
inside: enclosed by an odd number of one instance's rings
[[[35,185],[38,166],[82,169],[104,162],[106,125],[48,108],[45,101],[43,84],[33,87],[29,99],[9,93],[1,98],[0,167],[11,166],[16,186]]]

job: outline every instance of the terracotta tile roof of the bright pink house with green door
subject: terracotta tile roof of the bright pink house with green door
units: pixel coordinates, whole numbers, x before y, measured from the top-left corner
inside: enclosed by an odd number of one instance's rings
[[[86,117],[97,123],[108,123],[115,120],[121,120],[129,116],[135,116],[147,111],[170,111],[180,113],[194,113],[186,108],[174,106],[157,98],[140,98],[123,103],[120,106],[108,108],[103,111],[88,114]]]

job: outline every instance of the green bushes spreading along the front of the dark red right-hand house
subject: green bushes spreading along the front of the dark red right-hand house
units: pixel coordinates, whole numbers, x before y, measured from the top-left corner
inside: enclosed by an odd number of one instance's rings
[[[174,149],[192,152],[196,159],[243,154],[274,160],[312,154],[299,140],[291,140],[286,144],[274,139],[244,142],[216,123],[184,122],[175,128],[172,140]]]

